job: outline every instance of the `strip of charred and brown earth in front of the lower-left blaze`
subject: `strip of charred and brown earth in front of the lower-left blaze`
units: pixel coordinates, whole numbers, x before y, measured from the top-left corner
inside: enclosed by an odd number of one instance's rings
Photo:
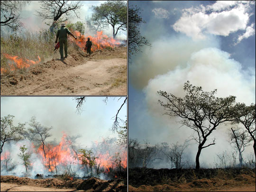
[[[54,189],[71,189],[73,191],[113,191],[113,192],[126,192],[127,183],[124,179],[112,179],[112,180],[102,180],[96,177],[91,177],[90,179],[30,179],[27,177],[17,177],[12,175],[0,176],[1,183],[18,184],[25,186],[29,191],[29,186],[37,186],[44,188]],[[2,191],[1,187],[1,191]],[[6,190],[5,190],[6,191]],[[11,190],[9,190],[11,191]]]

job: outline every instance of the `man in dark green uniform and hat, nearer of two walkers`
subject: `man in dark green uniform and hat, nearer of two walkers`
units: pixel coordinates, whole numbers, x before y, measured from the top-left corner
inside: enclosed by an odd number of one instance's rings
[[[64,59],[63,57],[63,45],[64,45],[64,51],[65,51],[65,58],[67,58],[68,54],[67,54],[67,34],[71,35],[72,37],[74,37],[75,39],[77,39],[69,30],[68,28],[65,27],[65,23],[61,24],[61,27],[58,29],[57,32],[57,38],[55,43],[57,43],[58,38],[60,40],[60,55],[61,55],[61,59]]]

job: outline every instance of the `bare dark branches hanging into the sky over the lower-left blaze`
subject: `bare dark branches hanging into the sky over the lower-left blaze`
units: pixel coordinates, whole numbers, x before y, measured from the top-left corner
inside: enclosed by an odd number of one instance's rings
[[[76,110],[78,113],[82,112],[82,106],[85,103],[87,97],[75,97],[74,100],[77,102],[76,105]],[[105,103],[107,103],[109,97],[105,97],[105,99],[103,100]],[[114,97],[115,98],[115,97]],[[112,118],[114,119],[114,122],[112,124],[112,131],[115,132],[116,130],[118,130],[120,128],[120,123],[123,122],[122,119],[119,118],[119,111],[122,109],[122,107],[124,106],[124,104],[127,103],[127,97],[119,97],[118,101],[123,99],[123,103],[121,104],[119,110],[117,111],[116,115]]]

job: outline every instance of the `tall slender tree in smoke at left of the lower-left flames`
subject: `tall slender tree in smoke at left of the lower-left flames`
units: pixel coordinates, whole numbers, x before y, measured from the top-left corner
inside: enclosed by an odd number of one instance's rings
[[[45,145],[46,145],[46,138],[47,137],[51,137],[52,135],[49,133],[49,131],[52,129],[52,127],[48,128],[45,126],[42,126],[39,122],[36,121],[36,117],[33,116],[30,119],[29,125],[31,128],[28,128],[28,132],[33,135],[32,140],[38,142],[39,144],[41,144],[39,147],[43,150],[44,152],[44,156],[45,156],[45,161],[47,161],[46,159],[46,149],[45,149]],[[50,165],[49,165],[50,168]]]

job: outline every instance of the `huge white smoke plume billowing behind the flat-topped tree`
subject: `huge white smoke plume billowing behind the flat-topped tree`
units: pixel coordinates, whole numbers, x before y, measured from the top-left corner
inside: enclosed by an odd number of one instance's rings
[[[192,129],[182,126],[177,118],[163,116],[163,107],[158,103],[163,98],[157,95],[157,91],[161,90],[183,97],[183,85],[186,81],[202,86],[203,91],[217,89],[218,97],[234,95],[237,102],[247,105],[255,103],[255,68],[252,70],[242,66],[228,52],[222,51],[219,38],[208,36],[205,40],[193,41],[179,35],[159,38],[151,43],[152,48],[144,47],[141,54],[133,57],[133,64],[129,66],[130,82],[137,90],[143,91],[146,103],[146,115],[137,114],[137,119],[148,122],[140,124],[141,130],[137,131],[137,138],[141,136],[145,139],[146,136],[151,143],[169,144],[182,143],[191,138]],[[215,137],[216,145],[202,150],[202,166],[212,167],[216,154],[233,150],[228,143],[229,129],[230,126],[221,125],[214,130],[209,139]],[[244,156],[252,151],[253,147],[248,146]],[[194,162],[196,152],[197,145],[191,140],[185,150],[187,158]]]

